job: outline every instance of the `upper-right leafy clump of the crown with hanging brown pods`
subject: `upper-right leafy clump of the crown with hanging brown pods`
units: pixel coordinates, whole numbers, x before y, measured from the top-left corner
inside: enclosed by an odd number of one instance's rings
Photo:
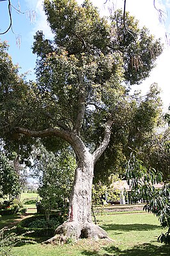
[[[139,21],[129,12],[125,15],[125,26],[130,33],[124,26],[122,10],[116,11],[111,21],[114,36],[112,48],[123,53],[125,81],[131,85],[141,83],[155,66],[157,56],[162,53],[160,39],[154,40],[146,27],[139,29]]]

